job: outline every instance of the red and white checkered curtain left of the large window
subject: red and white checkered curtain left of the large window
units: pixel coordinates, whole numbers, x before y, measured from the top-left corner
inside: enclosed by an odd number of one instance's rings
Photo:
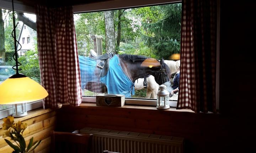
[[[45,109],[57,108],[57,103],[79,106],[82,91],[73,7],[38,5],[36,16],[41,83],[49,93],[43,106]]]

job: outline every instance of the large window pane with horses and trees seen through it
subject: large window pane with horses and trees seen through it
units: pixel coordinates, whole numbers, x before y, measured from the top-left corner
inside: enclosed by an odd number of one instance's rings
[[[170,93],[175,90],[171,87],[178,76],[179,58],[174,57],[180,53],[181,3],[80,13],[74,19],[85,96],[108,93],[156,98],[162,83]],[[105,53],[111,58],[97,56]],[[166,68],[140,66],[146,57],[157,59],[155,64],[163,57]],[[177,88],[177,78],[175,84]],[[174,92],[170,99],[177,100],[178,92]]]

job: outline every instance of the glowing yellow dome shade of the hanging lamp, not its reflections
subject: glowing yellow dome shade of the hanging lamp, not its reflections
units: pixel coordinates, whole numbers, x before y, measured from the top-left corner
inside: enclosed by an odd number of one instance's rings
[[[17,74],[15,74],[17,75]],[[0,84],[0,104],[18,104],[41,100],[48,92],[36,81],[22,77],[10,77]]]

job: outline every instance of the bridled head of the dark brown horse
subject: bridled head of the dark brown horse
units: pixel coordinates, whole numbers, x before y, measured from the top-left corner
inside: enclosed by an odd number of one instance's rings
[[[164,63],[163,58],[160,60],[160,67],[156,67],[156,68],[157,68],[157,70],[154,75],[156,83],[161,85],[161,84],[166,84],[166,83],[170,82],[171,70],[167,66],[167,64]]]

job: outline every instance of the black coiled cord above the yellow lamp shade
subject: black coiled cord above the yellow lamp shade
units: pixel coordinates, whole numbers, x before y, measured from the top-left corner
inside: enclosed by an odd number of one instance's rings
[[[16,74],[18,74],[18,70],[21,70],[21,69],[18,69],[18,66],[21,66],[21,63],[18,62],[18,55],[17,55],[17,52],[21,49],[21,44],[20,42],[17,41],[16,39],[16,27],[18,26],[18,23],[15,24],[15,16],[14,16],[14,2],[12,0],[12,20],[13,20],[13,26],[14,26],[14,29],[12,30],[12,38],[14,38],[14,48],[15,48],[15,51],[14,51],[14,55],[12,56],[15,60],[15,63],[16,65],[12,67],[12,69],[16,70]],[[18,43],[20,45],[20,49],[17,50],[17,45],[16,43]],[[15,68],[16,67],[16,68]]]

